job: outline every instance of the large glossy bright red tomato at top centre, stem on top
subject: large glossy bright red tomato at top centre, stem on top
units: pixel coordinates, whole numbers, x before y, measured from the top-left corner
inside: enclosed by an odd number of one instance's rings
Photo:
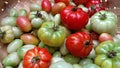
[[[70,30],[79,30],[88,23],[88,15],[81,8],[67,6],[61,12],[62,23]]]

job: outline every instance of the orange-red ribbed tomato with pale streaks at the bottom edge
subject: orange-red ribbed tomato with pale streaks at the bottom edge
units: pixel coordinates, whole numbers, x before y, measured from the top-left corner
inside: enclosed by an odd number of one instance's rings
[[[23,68],[49,68],[51,59],[51,54],[45,48],[35,47],[25,54]]]

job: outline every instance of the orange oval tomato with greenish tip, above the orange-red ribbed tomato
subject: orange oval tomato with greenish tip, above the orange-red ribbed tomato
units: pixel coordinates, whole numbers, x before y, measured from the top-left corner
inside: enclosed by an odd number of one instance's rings
[[[24,42],[24,44],[37,45],[39,43],[38,38],[32,34],[22,34],[20,39]]]

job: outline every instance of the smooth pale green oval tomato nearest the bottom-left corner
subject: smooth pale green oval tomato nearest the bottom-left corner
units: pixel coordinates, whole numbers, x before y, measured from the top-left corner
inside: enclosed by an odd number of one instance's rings
[[[12,52],[10,54],[8,54],[8,56],[6,56],[3,59],[3,65],[4,66],[12,66],[15,67],[20,63],[20,58],[17,54],[17,52]]]

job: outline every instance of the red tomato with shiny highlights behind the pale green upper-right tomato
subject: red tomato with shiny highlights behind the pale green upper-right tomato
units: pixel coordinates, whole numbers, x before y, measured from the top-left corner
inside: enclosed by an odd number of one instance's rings
[[[102,3],[100,0],[90,0],[87,4],[86,7],[88,8],[88,14],[89,16],[92,16],[96,12],[100,10],[105,10],[105,7],[103,7]]]

